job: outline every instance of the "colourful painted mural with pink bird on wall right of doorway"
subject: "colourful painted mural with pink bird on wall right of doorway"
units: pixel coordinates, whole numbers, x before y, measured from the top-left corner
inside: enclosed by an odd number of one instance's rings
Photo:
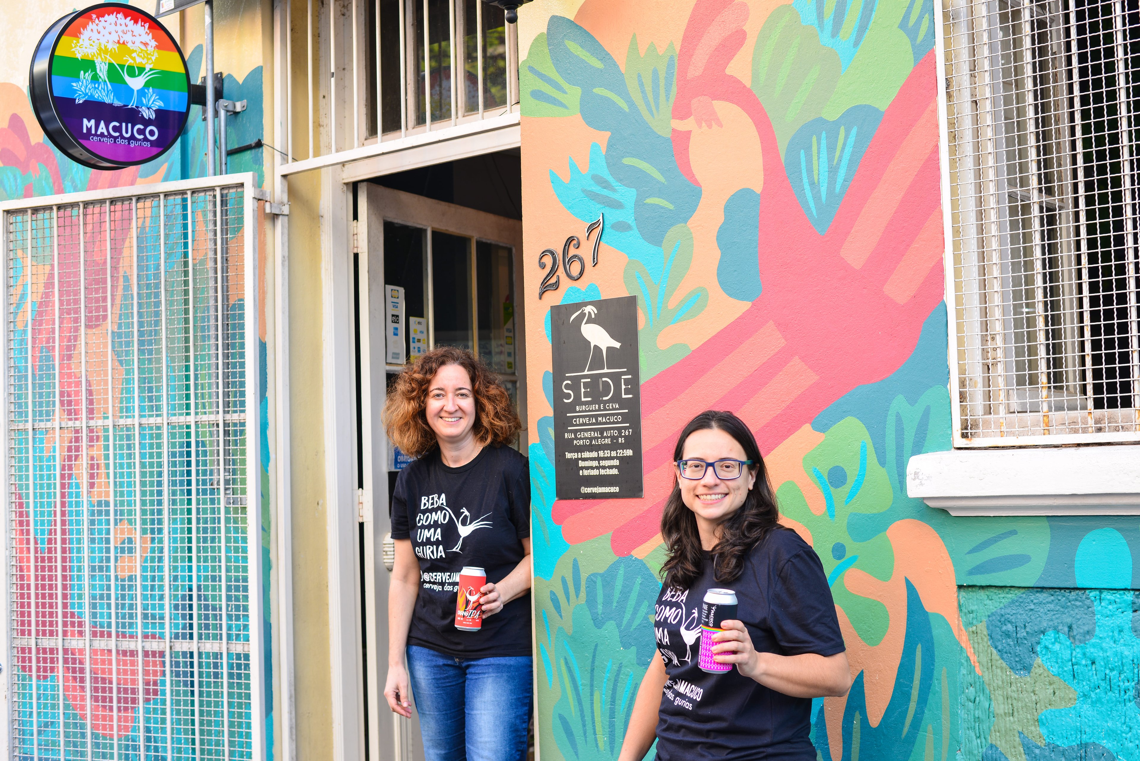
[[[934,3],[527,11],[526,250],[605,216],[580,281],[539,301],[524,260],[543,759],[618,755],[654,650],[668,460],[709,407],[752,427],[829,574],[857,677],[816,701],[821,759],[1140,759],[1140,519],[906,496],[909,458],[951,446]],[[627,294],[645,497],[556,501],[546,309]]]

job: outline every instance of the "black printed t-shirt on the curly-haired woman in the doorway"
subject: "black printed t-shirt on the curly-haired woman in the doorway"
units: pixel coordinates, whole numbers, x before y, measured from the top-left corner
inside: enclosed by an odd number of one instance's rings
[[[511,600],[477,631],[455,628],[459,569],[478,566],[497,583],[514,570],[530,536],[530,471],[508,446],[487,446],[459,468],[439,450],[396,479],[392,539],[410,539],[420,558],[420,596],[408,645],[459,658],[530,655],[530,592]]]

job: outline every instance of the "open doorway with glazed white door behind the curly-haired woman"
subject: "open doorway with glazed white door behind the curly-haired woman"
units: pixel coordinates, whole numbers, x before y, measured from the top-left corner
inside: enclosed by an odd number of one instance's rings
[[[506,386],[523,419],[518,446],[527,448],[522,222],[518,195],[510,193],[519,184],[516,161],[511,169],[510,159],[478,156],[355,187],[359,488],[365,505],[359,534],[361,739],[369,759],[423,758],[415,712],[412,720],[396,717],[383,696],[390,505],[396,478],[408,462],[381,424],[389,384],[406,362],[430,348],[470,349]]]

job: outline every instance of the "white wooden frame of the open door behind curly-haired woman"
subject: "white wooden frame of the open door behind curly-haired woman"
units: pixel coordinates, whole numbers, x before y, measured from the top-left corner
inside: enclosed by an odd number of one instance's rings
[[[343,185],[342,187],[348,187]],[[527,411],[527,374],[526,374],[526,349],[522,337],[526,335],[523,301],[523,275],[522,275],[522,222],[516,219],[508,219],[497,214],[458,207],[442,201],[435,201],[412,193],[393,191],[381,187],[373,183],[360,183],[357,186],[357,222],[353,230],[353,245],[359,253],[358,272],[361,293],[359,294],[359,325],[360,325],[360,405],[361,426],[360,447],[363,450],[364,488],[361,489],[361,521],[365,524],[365,556],[361,560],[365,568],[372,573],[365,575],[365,610],[364,620],[357,621],[357,642],[363,645],[360,638],[368,643],[368,653],[373,654],[368,662],[372,679],[367,680],[368,686],[368,715],[363,717],[363,721],[368,726],[369,758],[374,761],[394,758],[402,761],[408,752],[408,743],[412,739],[408,734],[413,729],[412,722],[400,720],[386,710],[386,701],[383,690],[380,689],[383,675],[386,674],[388,662],[388,584],[390,572],[383,564],[380,545],[384,534],[391,531],[388,504],[388,436],[381,422],[381,411],[384,407],[386,391],[388,367],[385,358],[385,321],[388,313],[385,300],[370,299],[372,293],[381,293],[384,286],[383,270],[383,221],[394,221],[406,225],[414,225],[429,230],[440,230],[465,237],[474,237],[477,241],[492,241],[495,243],[508,245],[513,251],[513,277],[515,292],[514,309],[514,347],[515,347],[515,375],[518,378],[518,404],[520,416],[526,416]],[[372,210],[377,210],[375,221],[372,224]],[[351,221],[349,222],[351,225]],[[345,226],[349,229],[349,226]],[[369,256],[370,251],[380,252],[378,256]],[[472,249],[474,256],[474,249]],[[375,266],[373,266],[375,265]],[[429,270],[430,274],[430,270]],[[472,268],[472,280],[474,281],[474,269]],[[340,277],[344,281],[344,277]],[[347,284],[351,284],[351,272],[347,273]],[[430,288],[430,285],[429,285]],[[336,294],[334,294],[335,297]],[[345,342],[351,351],[355,339],[351,316],[341,317],[342,311],[349,309],[352,303],[351,293],[341,299],[341,307],[336,309],[336,319],[344,319],[340,325],[333,326],[333,332],[340,335],[340,340]],[[331,309],[326,306],[326,309]],[[425,311],[427,305],[425,303]],[[425,316],[429,316],[425,314]],[[329,321],[332,324],[332,321]],[[478,335],[474,337],[478,347]],[[327,353],[326,353],[327,356]],[[336,372],[333,369],[333,372]],[[355,381],[355,366],[342,364],[341,375],[352,375],[350,381]],[[351,386],[350,386],[351,388]],[[355,389],[353,389],[355,394]],[[327,394],[326,394],[327,397]],[[355,400],[355,396],[353,396]],[[355,410],[353,410],[355,412]],[[342,421],[349,423],[348,427]],[[340,436],[355,437],[356,421],[337,419],[336,429]],[[520,434],[520,448],[527,451],[527,427],[523,420],[523,430]],[[345,455],[349,451],[345,450]],[[356,450],[351,454],[351,472],[356,472]],[[383,473],[383,478],[376,478]],[[378,484],[375,481],[380,481]],[[356,521],[353,521],[353,527]],[[356,559],[356,532],[352,534],[352,547],[343,547],[340,562],[345,559]],[[331,559],[332,560],[332,559]],[[343,570],[341,572],[343,573]],[[359,600],[359,590],[356,592],[356,600]],[[340,615],[345,615],[342,609]],[[348,618],[343,620],[344,623]],[[347,642],[347,639],[343,639]],[[359,650],[358,650],[359,651]],[[381,665],[383,664],[383,665]],[[356,674],[356,694],[363,697],[364,683],[361,670],[356,669],[342,674]],[[348,681],[348,679],[345,679]],[[347,694],[348,688],[343,691]],[[363,703],[361,703],[363,710]],[[364,724],[360,727],[363,738]],[[363,751],[363,747],[361,747]],[[358,755],[363,758],[363,753]]]

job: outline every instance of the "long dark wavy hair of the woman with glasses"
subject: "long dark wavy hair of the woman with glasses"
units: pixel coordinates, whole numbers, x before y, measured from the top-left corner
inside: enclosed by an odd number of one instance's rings
[[[736,439],[744,450],[744,459],[756,463],[752,465],[756,471],[756,483],[748,491],[740,510],[720,524],[720,540],[712,548],[715,554],[712,574],[717,583],[724,584],[740,577],[749,550],[763,542],[769,532],[783,527],[777,523],[780,510],[772,493],[772,485],[768,484],[768,472],[764,467],[764,458],[760,456],[760,447],[756,445],[756,437],[748,430],[744,421],[731,412],[708,410],[689,421],[673,451],[674,462],[684,456],[685,440],[690,434],[709,429],[723,430]],[[744,473],[740,477],[743,478]],[[661,566],[665,583],[671,586],[692,585],[701,575],[703,550],[697,529],[697,518],[681,499],[676,472],[673,476],[673,493],[669,494],[665,512],[661,513],[661,536],[665,537],[668,553],[665,565]]]

